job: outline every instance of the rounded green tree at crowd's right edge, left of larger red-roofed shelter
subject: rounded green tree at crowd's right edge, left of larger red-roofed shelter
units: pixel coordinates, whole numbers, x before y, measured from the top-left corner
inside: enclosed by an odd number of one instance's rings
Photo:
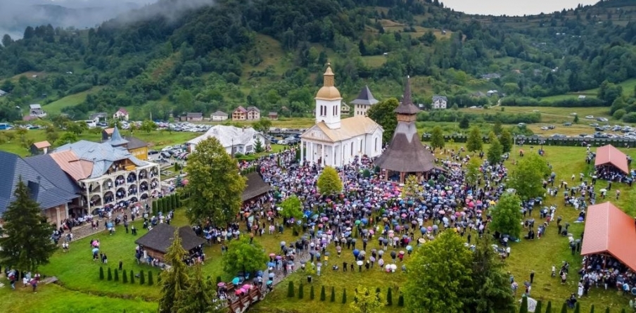
[[[513,193],[504,193],[492,208],[490,229],[501,234],[519,237],[521,234],[521,199]]]

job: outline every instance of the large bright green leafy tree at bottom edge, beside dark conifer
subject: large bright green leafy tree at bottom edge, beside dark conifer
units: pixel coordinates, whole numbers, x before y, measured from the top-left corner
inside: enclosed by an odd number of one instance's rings
[[[459,313],[471,286],[473,257],[454,231],[443,231],[415,250],[402,287],[408,312]]]

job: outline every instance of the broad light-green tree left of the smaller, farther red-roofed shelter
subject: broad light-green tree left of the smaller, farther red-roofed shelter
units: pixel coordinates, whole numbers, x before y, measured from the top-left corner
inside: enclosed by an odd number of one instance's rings
[[[510,175],[509,186],[516,190],[521,200],[542,196],[543,180],[550,174],[547,162],[539,155],[530,153],[521,158],[516,169]]]

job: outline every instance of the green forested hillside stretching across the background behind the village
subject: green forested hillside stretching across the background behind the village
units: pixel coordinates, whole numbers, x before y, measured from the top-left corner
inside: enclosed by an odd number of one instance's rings
[[[457,106],[485,104],[474,95],[490,89],[541,98],[636,77],[632,1],[524,17],[465,15],[438,0],[206,2],[162,0],[89,30],[4,36],[0,120],[51,102],[75,119],[119,107],[135,119],[238,105],[306,115],[327,60],[346,101],[364,84],[376,98],[398,96],[407,74],[420,103],[440,94]]]

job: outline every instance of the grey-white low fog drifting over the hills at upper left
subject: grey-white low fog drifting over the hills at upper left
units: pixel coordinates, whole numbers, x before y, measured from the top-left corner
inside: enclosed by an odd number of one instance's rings
[[[184,10],[210,6],[214,0],[0,0],[0,37],[23,36],[25,27],[51,24],[53,27],[84,29],[119,18],[123,23],[155,15],[175,18]]]

